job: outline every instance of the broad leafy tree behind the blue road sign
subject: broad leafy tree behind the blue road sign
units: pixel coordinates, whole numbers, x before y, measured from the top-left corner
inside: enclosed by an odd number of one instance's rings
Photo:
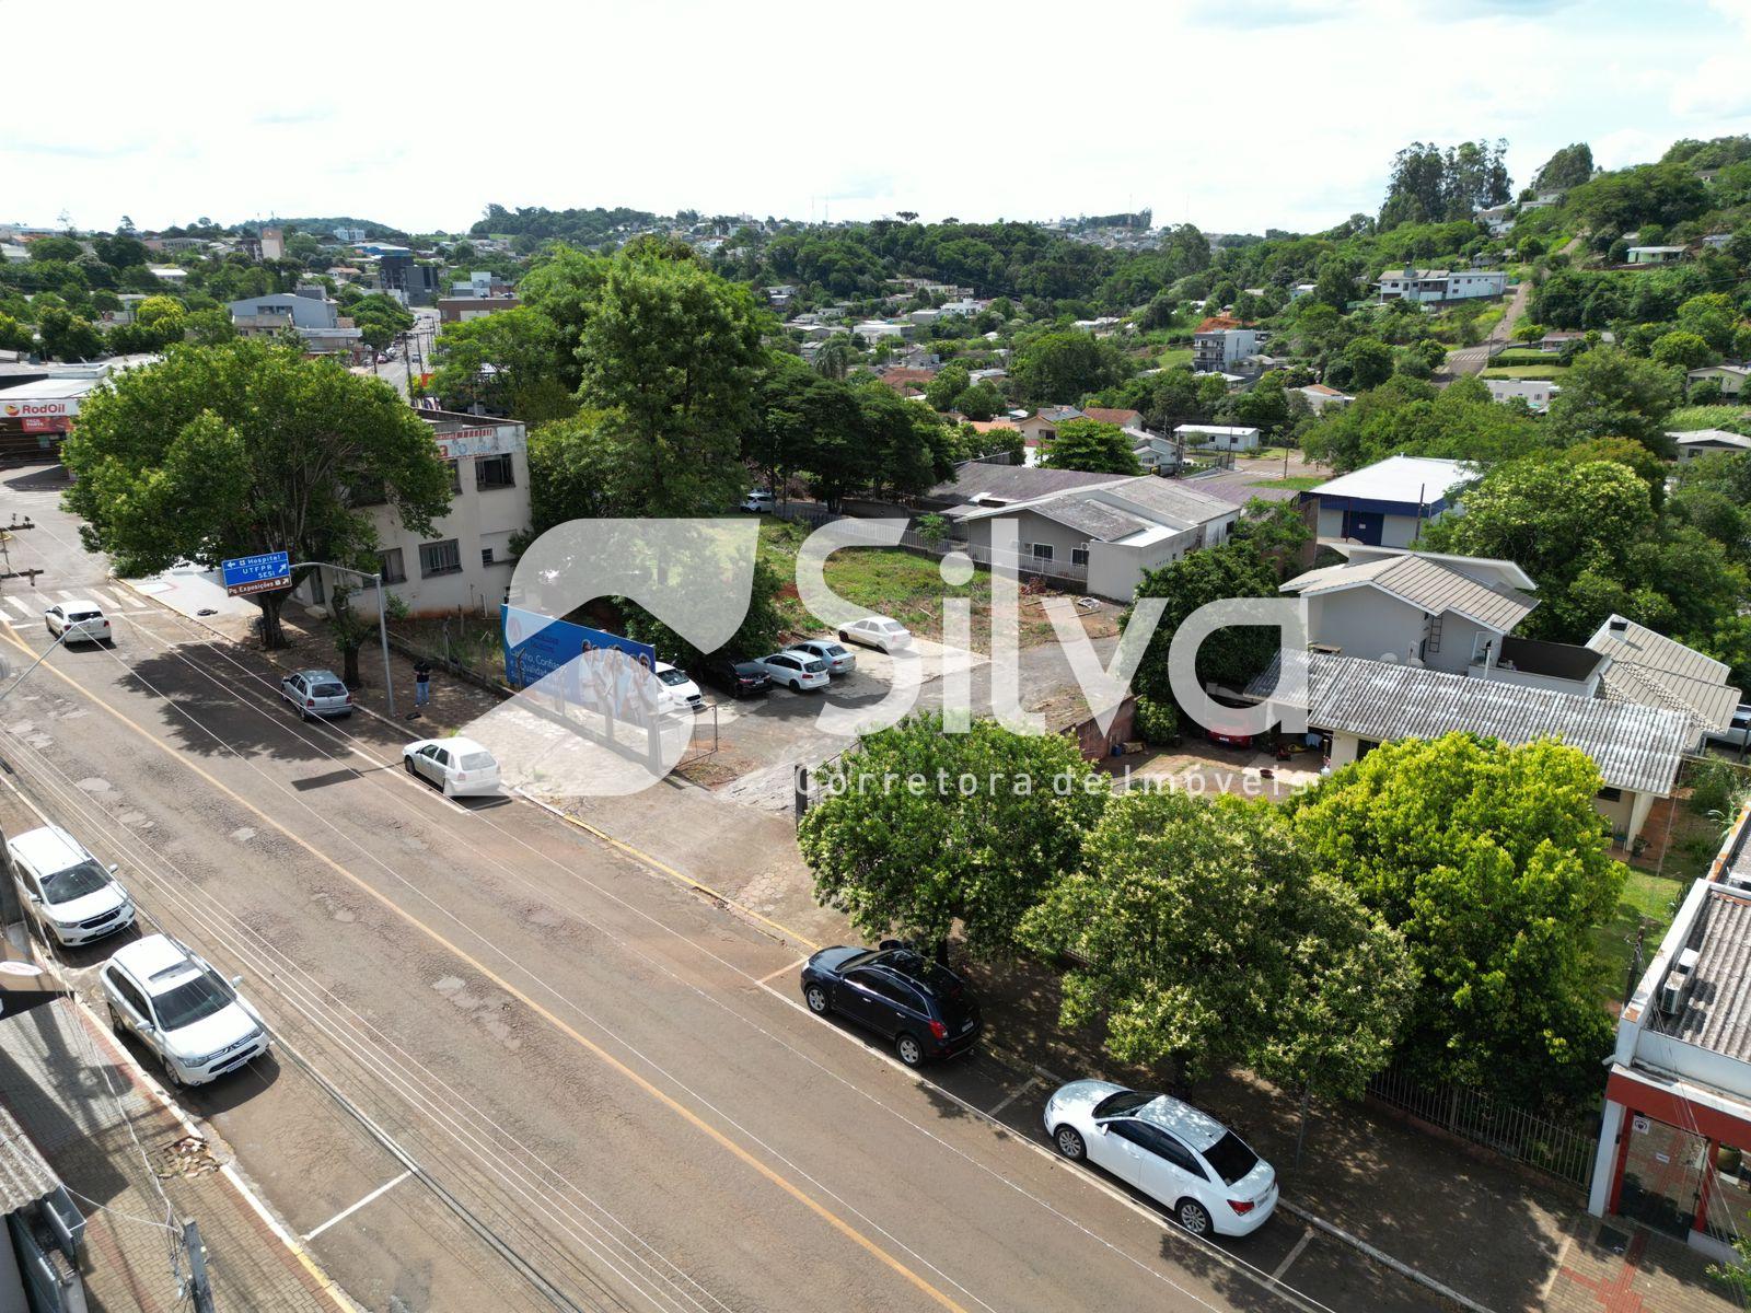
[[[376,548],[359,501],[382,492],[429,532],[450,508],[431,429],[394,390],[270,341],[177,347],[95,394],[63,446],[67,506],[121,574],[291,551],[355,565]],[[257,593],[284,646],[284,592]]]

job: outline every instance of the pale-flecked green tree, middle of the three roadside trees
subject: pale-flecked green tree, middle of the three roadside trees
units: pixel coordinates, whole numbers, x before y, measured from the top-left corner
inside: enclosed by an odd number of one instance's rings
[[[1315,874],[1278,809],[1233,797],[1114,798],[1021,938],[1073,963],[1066,1026],[1180,1077],[1261,1061],[1297,1091],[1355,1094],[1408,1000],[1397,935]]]

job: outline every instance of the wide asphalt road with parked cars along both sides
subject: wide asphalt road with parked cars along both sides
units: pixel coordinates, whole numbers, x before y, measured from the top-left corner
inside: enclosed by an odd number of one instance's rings
[[[53,473],[4,485],[47,571],[0,593],[14,674],[44,595],[117,606],[114,648],[5,697],[7,781],[245,975],[280,1054],[184,1103],[368,1308],[1429,1306],[1287,1217],[1194,1241],[1051,1154],[1038,1073],[900,1070],[800,1007],[805,945],[636,846],[441,798],[399,727],[301,725],[257,656],[107,581]],[[0,790],[0,823],[35,821]],[[68,959],[88,998],[112,947]]]

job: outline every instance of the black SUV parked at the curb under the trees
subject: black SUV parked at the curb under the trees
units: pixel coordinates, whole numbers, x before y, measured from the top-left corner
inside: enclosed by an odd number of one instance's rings
[[[979,1038],[979,1003],[947,966],[905,944],[821,949],[802,968],[802,1001],[893,1040],[907,1066],[967,1052]]]

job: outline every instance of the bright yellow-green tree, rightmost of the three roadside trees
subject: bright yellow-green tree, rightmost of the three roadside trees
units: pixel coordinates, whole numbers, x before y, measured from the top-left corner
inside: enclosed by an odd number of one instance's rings
[[[1557,741],[1450,734],[1376,748],[1290,804],[1319,868],[1410,945],[1399,1054],[1420,1078],[1529,1103],[1597,1094],[1611,1019],[1592,933],[1623,886],[1599,790]]]

